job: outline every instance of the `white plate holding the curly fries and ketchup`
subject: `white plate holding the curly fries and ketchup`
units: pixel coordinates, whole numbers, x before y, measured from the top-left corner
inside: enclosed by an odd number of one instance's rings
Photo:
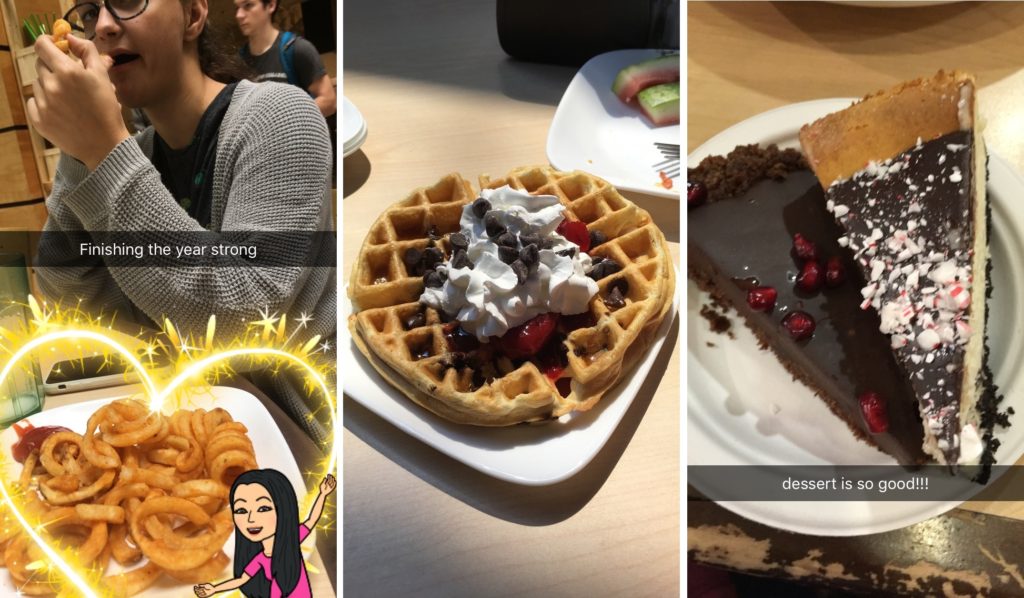
[[[85,422],[89,419],[96,410],[100,407],[111,402],[115,398],[122,398],[121,396],[116,396],[112,398],[103,398],[99,400],[91,400],[88,402],[80,402],[77,404],[70,404],[67,407],[61,407],[53,410],[44,410],[28,419],[33,426],[65,426],[71,428],[73,431],[78,433],[85,432]],[[191,404],[186,405],[184,409],[212,409],[214,407],[223,408],[227,413],[231,414],[231,418],[234,421],[242,422],[249,429],[249,437],[254,440],[253,446],[256,448],[256,462],[262,469],[276,469],[281,473],[284,473],[288,479],[292,481],[292,485],[295,486],[295,494],[299,499],[301,504],[302,498],[306,494],[305,485],[302,481],[302,474],[299,472],[299,466],[295,463],[295,459],[292,457],[292,452],[288,447],[288,442],[285,437],[281,434],[281,430],[278,425],[273,422],[270,417],[269,412],[259,402],[259,399],[249,394],[244,390],[238,388],[228,388],[225,386],[214,386],[209,392],[204,392],[202,394],[197,394],[191,397]],[[7,462],[12,464],[7,468],[8,479],[16,479],[22,472],[22,466],[19,463],[15,463],[13,457],[11,457],[11,445],[17,441],[17,434],[12,428],[7,428],[2,433],[0,433],[0,444],[2,444],[2,450],[7,458]],[[304,513],[299,513],[299,517],[305,518]],[[315,546],[315,539],[306,540],[302,543],[303,547]],[[227,543],[224,545],[224,553],[228,557],[234,554],[234,532],[231,532],[231,537],[228,538]],[[143,559],[141,566],[145,561]],[[135,568],[135,567],[130,567]],[[111,565],[106,570],[106,574],[114,574],[125,570],[116,561],[111,560]],[[224,571],[218,575],[216,580],[209,580],[211,583],[222,582],[230,576],[230,566],[224,569]],[[157,581],[150,589],[141,594],[146,598],[171,598],[180,597],[184,593],[191,595],[191,587],[194,584],[184,584],[172,580],[168,575],[162,575],[160,580]],[[0,595],[2,596],[14,596],[16,592],[16,586],[13,583],[13,579],[6,569],[0,569]]]

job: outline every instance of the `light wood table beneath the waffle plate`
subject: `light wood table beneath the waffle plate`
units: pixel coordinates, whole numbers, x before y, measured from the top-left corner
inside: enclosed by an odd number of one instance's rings
[[[344,93],[369,126],[344,162],[347,280],[370,225],[413,188],[546,163],[575,70],[507,58],[488,2],[346,2],[344,20]],[[629,197],[678,256],[679,203]],[[545,487],[478,473],[346,398],[345,595],[678,595],[679,343],[667,347],[596,460]]]

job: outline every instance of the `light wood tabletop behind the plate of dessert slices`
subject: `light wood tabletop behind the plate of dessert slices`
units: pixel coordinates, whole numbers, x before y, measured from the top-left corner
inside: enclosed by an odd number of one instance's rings
[[[885,4],[688,3],[688,151],[731,125],[775,108],[827,97],[858,97],[939,69],[957,69],[977,78],[989,152],[1024,172],[1024,50],[1020,45],[1024,3],[961,2],[912,8]],[[691,533],[697,527],[706,529],[701,523],[710,518],[703,509],[691,508]],[[966,503],[949,520],[971,517],[963,510],[1024,519],[1020,503],[988,502]],[[693,538],[697,537],[691,538],[691,550]],[[888,542],[880,541],[877,546]],[[844,546],[839,540],[835,544]],[[863,544],[858,546],[864,550]],[[961,564],[973,564],[971,558],[964,556]],[[1024,589],[1012,583],[1010,587]]]

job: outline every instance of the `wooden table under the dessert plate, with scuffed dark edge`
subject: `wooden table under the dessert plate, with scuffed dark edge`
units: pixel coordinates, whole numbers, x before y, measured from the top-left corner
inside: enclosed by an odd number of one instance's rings
[[[977,77],[989,151],[1024,172],[1022,3],[690,2],[687,14],[690,152],[767,110],[860,96],[940,68],[959,69]],[[941,592],[955,582],[961,593],[1024,594],[1024,579],[1010,569],[1024,558],[1019,503],[966,503],[919,525],[858,540],[781,532],[699,499],[688,512],[688,548],[700,562],[860,591]],[[952,535],[961,540],[949,542]],[[824,566],[834,562],[840,566]]]

